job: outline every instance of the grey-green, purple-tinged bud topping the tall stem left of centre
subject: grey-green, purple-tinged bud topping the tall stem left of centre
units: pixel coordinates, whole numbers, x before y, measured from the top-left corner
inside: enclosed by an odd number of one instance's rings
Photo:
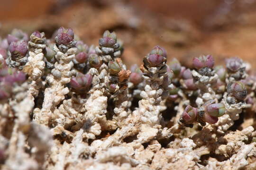
[[[115,32],[105,31],[103,38],[99,39],[99,45],[103,47],[113,47],[117,43],[117,35]]]

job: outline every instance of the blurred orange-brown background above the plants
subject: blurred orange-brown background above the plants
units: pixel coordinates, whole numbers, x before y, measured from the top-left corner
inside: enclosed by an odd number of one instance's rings
[[[130,66],[155,46],[169,60],[191,66],[192,58],[212,54],[217,63],[238,56],[256,67],[256,0],[0,0],[0,36],[13,28],[43,31],[73,28],[88,45],[104,30],[124,42]]]

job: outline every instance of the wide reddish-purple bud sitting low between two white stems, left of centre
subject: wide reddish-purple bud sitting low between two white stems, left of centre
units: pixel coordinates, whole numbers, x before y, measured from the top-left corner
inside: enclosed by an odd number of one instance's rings
[[[71,78],[70,86],[75,90],[84,90],[91,86],[92,76],[90,74],[77,73],[76,77]]]

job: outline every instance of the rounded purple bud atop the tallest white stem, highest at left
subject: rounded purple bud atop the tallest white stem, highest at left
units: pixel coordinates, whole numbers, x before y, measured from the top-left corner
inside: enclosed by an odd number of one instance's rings
[[[55,40],[58,45],[68,45],[74,40],[73,30],[71,28],[65,29],[64,27],[60,27],[57,31],[57,36],[55,37]]]

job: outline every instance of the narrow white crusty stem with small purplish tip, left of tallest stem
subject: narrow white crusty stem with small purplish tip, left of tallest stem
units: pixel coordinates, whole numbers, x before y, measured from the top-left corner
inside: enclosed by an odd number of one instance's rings
[[[44,74],[45,62],[43,50],[46,48],[45,33],[35,32],[30,35],[28,42],[28,58],[23,68],[23,72],[27,73],[30,81],[28,93],[32,100],[38,95],[38,90],[42,88],[42,75]]]

